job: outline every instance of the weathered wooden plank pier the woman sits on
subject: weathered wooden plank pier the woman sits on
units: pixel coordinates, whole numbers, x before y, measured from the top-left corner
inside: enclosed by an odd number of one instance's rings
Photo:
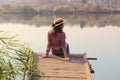
[[[86,53],[71,54],[70,61],[52,54],[48,58],[35,55],[42,80],[92,80]]]

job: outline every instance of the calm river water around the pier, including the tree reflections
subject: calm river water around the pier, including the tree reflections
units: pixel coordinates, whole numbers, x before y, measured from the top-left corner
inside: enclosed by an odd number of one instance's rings
[[[18,35],[34,52],[45,52],[47,32],[52,20],[62,17],[65,21],[66,41],[70,53],[87,53],[95,73],[93,80],[120,80],[120,14],[99,15],[0,15],[0,31]]]

